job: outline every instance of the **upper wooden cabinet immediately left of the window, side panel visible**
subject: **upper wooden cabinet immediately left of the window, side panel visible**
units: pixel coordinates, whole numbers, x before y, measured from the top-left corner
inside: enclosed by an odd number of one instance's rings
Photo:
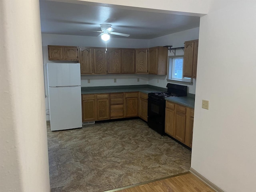
[[[167,74],[168,49],[166,47],[149,48],[148,73],[157,75]]]

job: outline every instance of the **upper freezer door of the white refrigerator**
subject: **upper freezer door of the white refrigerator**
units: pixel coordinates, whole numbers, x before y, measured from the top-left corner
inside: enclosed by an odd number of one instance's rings
[[[47,63],[48,86],[81,85],[80,63]]]

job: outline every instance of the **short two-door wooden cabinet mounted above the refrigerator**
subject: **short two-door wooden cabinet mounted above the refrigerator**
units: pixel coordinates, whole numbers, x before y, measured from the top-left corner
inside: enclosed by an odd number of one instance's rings
[[[48,60],[78,61],[78,47],[48,45]]]

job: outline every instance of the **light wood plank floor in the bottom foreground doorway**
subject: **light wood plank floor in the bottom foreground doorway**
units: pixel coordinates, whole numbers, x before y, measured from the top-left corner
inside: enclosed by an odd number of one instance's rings
[[[148,184],[118,190],[118,192],[215,192],[192,173]]]

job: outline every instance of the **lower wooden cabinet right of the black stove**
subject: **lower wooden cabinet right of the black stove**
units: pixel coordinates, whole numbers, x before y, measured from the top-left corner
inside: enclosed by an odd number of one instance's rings
[[[166,101],[165,132],[192,147],[194,109]]]

